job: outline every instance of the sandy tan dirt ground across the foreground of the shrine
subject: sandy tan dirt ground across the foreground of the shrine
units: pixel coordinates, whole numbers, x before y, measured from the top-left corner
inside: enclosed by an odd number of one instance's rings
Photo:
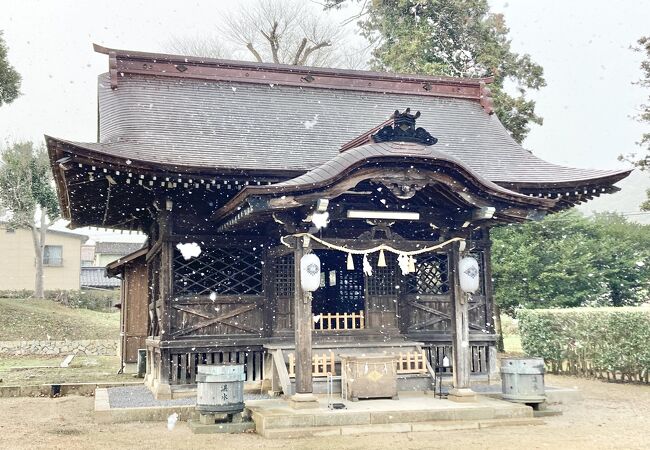
[[[168,431],[166,423],[99,425],[93,398],[0,399],[1,448],[219,448],[368,449],[424,448],[650,448],[650,386],[605,383],[568,377],[547,384],[578,387],[584,400],[558,405],[562,416],[545,425],[431,433],[372,434],[268,440],[255,434],[193,435],[186,423]]]

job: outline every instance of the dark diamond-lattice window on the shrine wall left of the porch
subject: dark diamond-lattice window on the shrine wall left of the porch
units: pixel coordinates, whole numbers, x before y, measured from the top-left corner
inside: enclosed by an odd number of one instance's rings
[[[262,258],[251,248],[203,248],[186,261],[174,250],[174,293],[257,295],[262,293]]]

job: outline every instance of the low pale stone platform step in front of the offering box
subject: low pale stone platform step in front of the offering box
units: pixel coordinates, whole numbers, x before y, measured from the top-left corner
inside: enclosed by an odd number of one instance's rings
[[[457,403],[423,393],[400,392],[399,400],[335,402],[346,409],[330,410],[327,398],[319,407],[296,410],[282,399],[251,400],[255,430],[269,438],[338,436],[453,429],[477,429],[543,423],[526,405],[478,396],[474,403]]]

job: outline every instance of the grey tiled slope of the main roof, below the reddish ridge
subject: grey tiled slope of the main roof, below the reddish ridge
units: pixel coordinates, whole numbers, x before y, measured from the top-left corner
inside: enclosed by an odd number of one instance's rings
[[[298,174],[335,157],[395,109],[410,107],[422,113],[418,126],[438,138],[437,150],[494,182],[552,185],[623,172],[541,160],[466,99],[146,76],[120,79],[112,90],[102,75],[99,102],[100,143],[78,145],[173,169]]]

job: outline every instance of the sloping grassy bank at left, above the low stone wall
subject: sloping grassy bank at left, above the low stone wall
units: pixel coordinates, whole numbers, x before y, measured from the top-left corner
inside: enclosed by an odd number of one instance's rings
[[[0,341],[119,339],[120,314],[52,300],[0,298]]]

